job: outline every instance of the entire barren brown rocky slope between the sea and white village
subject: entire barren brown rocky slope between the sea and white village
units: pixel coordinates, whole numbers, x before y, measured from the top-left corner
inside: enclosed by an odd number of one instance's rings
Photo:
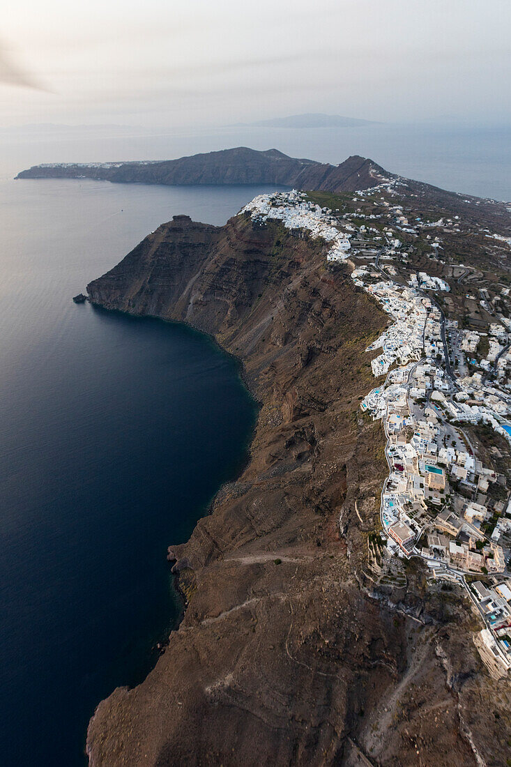
[[[509,710],[463,597],[414,568],[398,597],[370,595],[363,574],[386,465],[358,404],[387,318],[348,265],[274,223],[177,216],[87,291],[213,334],[261,403],[249,465],[171,546],[183,622],[98,706],[91,765],[506,764]]]

